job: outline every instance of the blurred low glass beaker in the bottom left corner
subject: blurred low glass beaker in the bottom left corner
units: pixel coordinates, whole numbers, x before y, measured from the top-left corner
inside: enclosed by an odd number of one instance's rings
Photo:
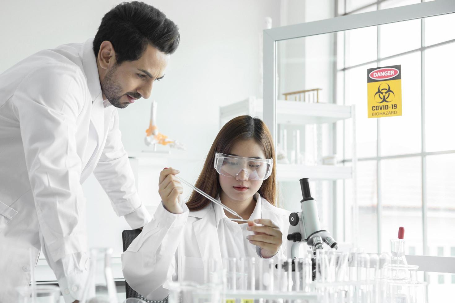
[[[17,303],[57,303],[60,298],[60,289],[55,285],[23,286],[16,290]]]

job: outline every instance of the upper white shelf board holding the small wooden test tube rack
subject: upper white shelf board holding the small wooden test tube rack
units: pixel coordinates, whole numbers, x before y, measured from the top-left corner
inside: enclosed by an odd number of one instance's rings
[[[263,118],[263,99],[249,97],[243,101],[220,107],[220,122],[250,114]],[[277,124],[324,124],[352,117],[352,107],[329,103],[277,100]],[[222,126],[222,125],[220,125]]]

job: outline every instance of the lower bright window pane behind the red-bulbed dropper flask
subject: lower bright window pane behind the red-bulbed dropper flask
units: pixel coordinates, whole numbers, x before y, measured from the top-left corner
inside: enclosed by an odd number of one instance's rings
[[[415,247],[423,253],[421,158],[386,159],[381,166],[382,251],[390,252],[390,239],[404,227],[405,253]]]

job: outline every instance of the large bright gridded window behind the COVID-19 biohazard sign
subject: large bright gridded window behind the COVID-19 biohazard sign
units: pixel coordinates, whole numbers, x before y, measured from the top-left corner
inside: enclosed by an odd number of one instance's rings
[[[357,14],[420,2],[424,1],[338,0],[338,13]],[[455,233],[455,140],[451,135],[455,102],[449,97],[453,87],[450,74],[455,70],[455,32],[448,28],[455,28],[455,14],[340,32],[336,40],[336,79],[342,86],[336,90],[337,103],[356,104],[359,224],[369,222],[371,234],[363,235],[361,226],[359,238],[379,253],[390,251],[389,239],[396,238],[399,226],[404,226],[408,254],[444,256],[449,254],[447,245],[450,256],[455,257],[455,238],[447,238]],[[366,52],[354,54],[353,50],[363,48]],[[356,91],[361,96],[365,93],[368,68],[389,65],[401,65],[403,115],[368,119],[364,98],[352,96]],[[346,122],[338,129],[344,141],[337,149],[345,147],[344,162],[349,164],[352,127]],[[344,192],[351,190],[350,186],[346,182]],[[377,245],[371,243],[374,240]],[[435,285],[430,284],[430,277]],[[438,286],[445,283],[444,274],[429,273],[425,279],[429,302],[450,295]],[[455,284],[455,274],[451,283]]]

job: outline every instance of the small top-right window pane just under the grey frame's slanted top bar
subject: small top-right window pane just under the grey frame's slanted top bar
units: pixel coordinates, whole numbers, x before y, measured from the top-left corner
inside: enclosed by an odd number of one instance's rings
[[[455,39],[455,14],[425,18],[425,45]]]

